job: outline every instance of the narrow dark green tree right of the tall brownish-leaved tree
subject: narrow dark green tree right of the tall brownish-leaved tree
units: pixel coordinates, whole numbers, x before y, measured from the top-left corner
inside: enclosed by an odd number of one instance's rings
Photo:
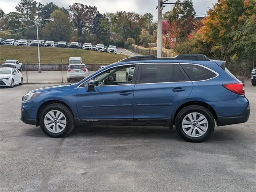
[[[108,44],[110,40],[110,21],[106,17],[106,14],[103,14],[98,22],[98,27],[95,29],[96,37],[103,44]]]

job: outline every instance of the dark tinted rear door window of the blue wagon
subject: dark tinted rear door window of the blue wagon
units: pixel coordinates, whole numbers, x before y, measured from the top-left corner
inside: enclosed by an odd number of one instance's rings
[[[176,64],[142,64],[140,83],[186,81]]]

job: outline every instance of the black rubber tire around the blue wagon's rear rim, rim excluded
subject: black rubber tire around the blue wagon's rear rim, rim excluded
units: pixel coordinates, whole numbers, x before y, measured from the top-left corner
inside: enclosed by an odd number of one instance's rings
[[[198,112],[200,114],[203,114],[206,119],[208,120],[208,129],[206,131],[206,133],[200,137],[190,137],[188,136],[184,130],[182,129],[182,120],[183,118],[192,112]],[[203,142],[204,140],[208,139],[211,135],[212,132],[214,131],[214,127],[215,127],[215,122],[214,122],[214,118],[212,116],[212,114],[210,113],[209,110],[207,110],[206,108],[202,107],[202,106],[188,106],[184,109],[182,109],[179,114],[177,115],[176,118],[176,131],[178,132],[178,134],[186,141],[188,142]]]

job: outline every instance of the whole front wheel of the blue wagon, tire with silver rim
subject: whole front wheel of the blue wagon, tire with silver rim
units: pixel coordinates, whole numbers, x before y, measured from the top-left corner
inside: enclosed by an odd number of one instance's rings
[[[50,104],[40,114],[40,126],[50,137],[65,137],[74,128],[73,115],[63,104]]]

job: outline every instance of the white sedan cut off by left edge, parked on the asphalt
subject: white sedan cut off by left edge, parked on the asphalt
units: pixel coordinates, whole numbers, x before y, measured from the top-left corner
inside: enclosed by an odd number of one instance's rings
[[[0,68],[0,86],[22,85],[23,77],[21,72],[16,68],[3,67]]]

